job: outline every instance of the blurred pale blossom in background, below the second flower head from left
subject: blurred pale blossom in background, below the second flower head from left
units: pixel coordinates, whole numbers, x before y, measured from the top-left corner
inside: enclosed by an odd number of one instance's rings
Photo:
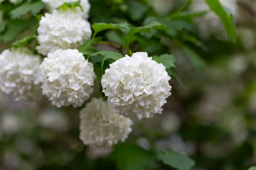
[[[68,127],[67,116],[58,110],[47,110],[41,113],[39,123],[43,127],[60,132],[67,130]]]

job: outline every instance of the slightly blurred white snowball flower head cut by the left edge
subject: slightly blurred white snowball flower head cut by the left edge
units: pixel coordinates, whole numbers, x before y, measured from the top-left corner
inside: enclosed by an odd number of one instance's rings
[[[0,89],[15,101],[34,102],[41,96],[41,59],[28,48],[6,49],[0,54]]]

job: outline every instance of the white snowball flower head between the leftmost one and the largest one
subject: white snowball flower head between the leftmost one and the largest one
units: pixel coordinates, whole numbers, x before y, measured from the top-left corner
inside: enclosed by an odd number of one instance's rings
[[[93,64],[76,49],[49,53],[40,67],[42,93],[52,105],[80,107],[93,93]]]

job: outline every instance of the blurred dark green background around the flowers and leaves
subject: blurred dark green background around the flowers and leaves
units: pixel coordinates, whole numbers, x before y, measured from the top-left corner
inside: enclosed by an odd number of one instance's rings
[[[1,93],[0,170],[172,170],[154,161],[157,149],[186,153],[195,160],[192,170],[247,170],[256,165],[256,0],[220,0],[233,12],[236,42],[227,38],[221,20],[203,0],[177,14],[186,2],[90,0],[91,24],[142,26],[159,18],[168,26],[172,36],[152,31],[131,42],[133,52],[177,58],[172,96],[161,115],[134,120],[125,143],[92,149],[79,139],[79,109],[55,108],[47,99],[25,105]],[[32,25],[18,38],[35,31]],[[116,30],[98,36],[123,43]],[[0,51],[10,45],[0,42]],[[104,44],[97,48],[116,50]],[[100,96],[98,88],[93,96]]]

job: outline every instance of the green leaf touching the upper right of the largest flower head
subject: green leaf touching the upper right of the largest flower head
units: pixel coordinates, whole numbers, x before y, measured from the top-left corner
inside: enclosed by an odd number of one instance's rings
[[[162,63],[166,68],[175,68],[175,57],[171,54],[163,54],[160,56],[152,56],[157,63]]]

